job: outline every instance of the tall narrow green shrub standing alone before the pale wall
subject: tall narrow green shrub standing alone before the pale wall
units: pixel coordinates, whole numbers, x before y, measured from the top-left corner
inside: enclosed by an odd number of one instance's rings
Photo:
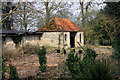
[[[46,58],[46,48],[42,47],[42,49],[38,48],[37,50],[37,54],[38,54],[38,57],[39,57],[39,70],[41,72],[45,72],[46,71],[46,61],[47,61],[47,58]]]

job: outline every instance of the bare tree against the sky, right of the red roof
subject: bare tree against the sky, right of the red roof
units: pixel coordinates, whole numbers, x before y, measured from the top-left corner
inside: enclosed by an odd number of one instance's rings
[[[98,10],[95,10],[95,7],[98,7],[103,5],[103,1],[97,2],[97,0],[79,0],[79,16],[77,17],[78,25],[80,25],[80,22],[82,27],[85,27],[87,23],[90,22],[91,19],[93,19],[96,14],[98,13]]]

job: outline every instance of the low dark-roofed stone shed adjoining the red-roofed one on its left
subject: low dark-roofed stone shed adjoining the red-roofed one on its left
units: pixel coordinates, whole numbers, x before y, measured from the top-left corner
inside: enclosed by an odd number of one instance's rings
[[[4,49],[16,49],[17,46],[37,45],[39,46],[41,32],[28,32],[17,30],[0,30],[2,37],[2,47]]]

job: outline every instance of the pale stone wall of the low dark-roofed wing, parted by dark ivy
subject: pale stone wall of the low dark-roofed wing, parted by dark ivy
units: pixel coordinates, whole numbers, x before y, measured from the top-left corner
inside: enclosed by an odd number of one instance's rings
[[[26,44],[41,46],[39,45],[40,39],[41,39],[41,35],[26,35],[22,37],[22,40],[19,46],[22,47],[22,46],[25,46]],[[4,49],[8,49],[8,50],[16,49],[16,45],[10,36],[7,36],[5,38],[3,47]]]

